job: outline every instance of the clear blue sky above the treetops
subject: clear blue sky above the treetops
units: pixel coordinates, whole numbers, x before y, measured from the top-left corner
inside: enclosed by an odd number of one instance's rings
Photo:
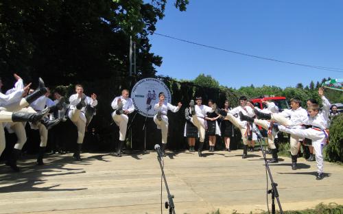
[[[186,12],[169,0],[156,33],[252,55],[320,67],[341,73],[239,56],[157,35],[152,52],[163,57],[159,75],[192,80],[211,75],[228,87],[308,85],[343,78],[343,1],[190,0]]]

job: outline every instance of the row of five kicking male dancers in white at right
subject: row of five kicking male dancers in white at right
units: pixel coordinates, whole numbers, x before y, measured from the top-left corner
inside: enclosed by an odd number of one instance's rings
[[[329,109],[331,104],[324,97],[324,91],[322,88],[318,91],[322,99],[322,110],[318,104],[309,104],[307,110],[300,106],[301,101],[298,98],[290,100],[291,109],[285,109],[279,112],[279,108],[273,102],[263,102],[266,108],[262,110],[253,106],[251,102],[248,102],[245,96],[239,97],[240,106],[233,108],[232,110],[220,110],[216,105],[211,106],[202,105],[202,98],[196,98],[196,104],[192,100],[189,104],[190,108],[186,112],[187,125],[195,126],[198,129],[200,138],[200,145],[198,149],[199,156],[202,156],[202,146],[204,145],[204,136],[206,129],[211,126],[206,121],[209,112],[215,112],[216,115],[222,115],[224,119],[227,119],[234,126],[239,128],[241,132],[241,138],[244,144],[244,150],[242,158],[247,158],[248,141],[251,136],[252,126],[254,124],[261,126],[268,132],[268,145],[272,151],[272,159],[270,163],[278,163],[277,149],[274,144],[277,132],[286,132],[290,134],[290,152],[292,154],[292,169],[297,169],[296,163],[298,158],[298,152],[300,149],[300,141],[303,139],[310,139],[312,141],[312,147],[315,151],[316,163],[317,163],[317,180],[323,178],[323,156],[322,150],[328,143],[329,132]],[[190,116],[191,115],[191,116]],[[215,117],[216,118],[216,117]],[[309,128],[305,128],[309,126]],[[215,129],[216,130],[216,129]],[[211,138],[209,138],[210,151],[213,151],[211,147]]]

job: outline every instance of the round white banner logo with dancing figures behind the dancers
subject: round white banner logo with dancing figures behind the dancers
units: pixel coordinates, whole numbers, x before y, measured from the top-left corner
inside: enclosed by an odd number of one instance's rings
[[[170,103],[170,91],[164,82],[155,78],[139,80],[131,91],[134,108],[145,117],[154,117],[154,106],[158,103],[158,94],[161,92],[165,93],[165,101]]]

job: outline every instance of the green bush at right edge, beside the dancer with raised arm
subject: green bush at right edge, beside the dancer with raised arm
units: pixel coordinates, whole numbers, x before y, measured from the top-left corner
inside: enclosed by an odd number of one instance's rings
[[[325,159],[343,162],[343,114],[334,117],[329,128],[330,142],[325,148]]]

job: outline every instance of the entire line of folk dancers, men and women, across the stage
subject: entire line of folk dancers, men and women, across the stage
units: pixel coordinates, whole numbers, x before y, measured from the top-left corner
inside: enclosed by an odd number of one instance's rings
[[[45,87],[43,80],[39,79],[38,88],[36,91],[29,93],[29,86],[24,86],[23,80],[14,74],[17,82],[14,88],[7,91],[5,94],[0,93],[0,121],[1,126],[8,129],[9,132],[14,132],[17,136],[17,142],[14,145],[12,154],[6,165],[10,166],[14,171],[19,171],[16,165],[16,160],[21,153],[21,149],[26,141],[25,124],[30,123],[32,128],[38,129],[40,132],[40,150],[37,157],[38,165],[43,165],[43,154],[47,145],[48,130],[56,126],[60,121],[64,121],[65,117],[73,122],[78,130],[77,147],[73,154],[75,160],[81,160],[80,151],[84,141],[84,133],[86,125],[89,123],[94,114],[94,110],[89,110],[97,106],[97,95],[94,93],[90,97],[84,94],[82,85],[75,86],[75,94],[69,97],[69,106],[64,102],[64,97],[58,93],[54,94],[55,101],[48,98],[49,88]],[[0,86],[2,86],[0,80]],[[29,94],[28,94],[29,93]],[[272,159],[270,163],[278,163],[277,149],[274,140],[279,131],[290,134],[290,152],[292,154],[292,169],[296,169],[298,151],[300,141],[302,139],[311,139],[317,162],[316,179],[323,178],[323,157],[322,150],[328,141],[327,128],[329,126],[329,108],[330,103],[324,97],[322,88],[318,91],[322,99],[322,110],[319,105],[314,103],[314,100],[307,101],[307,110],[300,106],[300,99],[293,98],[290,100],[291,109],[285,109],[279,112],[278,106],[274,102],[263,102],[265,108],[260,109],[255,107],[252,102],[249,102],[245,96],[239,97],[239,106],[230,109],[226,101],[223,109],[217,108],[213,101],[209,101],[209,106],[202,104],[202,97],[196,97],[195,102],[191,100],[189,107],[185,109],[185,136],[187,136],[190,152],[195,152],[196,138],[199,138],[200,144],[198,147],[198,155],[202,157],[202,148],[204,146],[205,135],[209,136],[209,151],[213,152],[215,148],[215,135],[224,136],[226,150],[230,151],[230,136],[233,136],[233,126],[239,128],[241,139],[244,144],[242,158],[247,158],[248,149],[251,140],[256,138],[252,135],[252,130],[255,126],[260,126],[268,132],[268,145],[272,151]],[[28,95],[27,95],[28,94]],[[45,106],[47,106],[45,108]],[[113,120],[119,127],[119,144],[117,148],[117,156],[121,156],[121,149],[126,140],[126,131],[128,127],[128,115],[134,112],[132,99],[129,97],[129,91],[124,89],[121,91],[121,96],[115,97],[111,104],[114,112]],[[173,106],[165,101],[165,94],[158,94],[158,102],[154,105],[156,115],[154,122],[162,135],[162,152],[164,155],[167,145],[168,136],[168,117],[167,111],[178,112],[182,104],[178,102],[177,106]],[[47,117],[48,114],[57,115],[56,117]],[[217,119],[222,119],[222,129],[218,126]],[[305,128],[308,126],[309,128]],[[0,155],[5,149],[5,134],[3,128],[0,128]]]

